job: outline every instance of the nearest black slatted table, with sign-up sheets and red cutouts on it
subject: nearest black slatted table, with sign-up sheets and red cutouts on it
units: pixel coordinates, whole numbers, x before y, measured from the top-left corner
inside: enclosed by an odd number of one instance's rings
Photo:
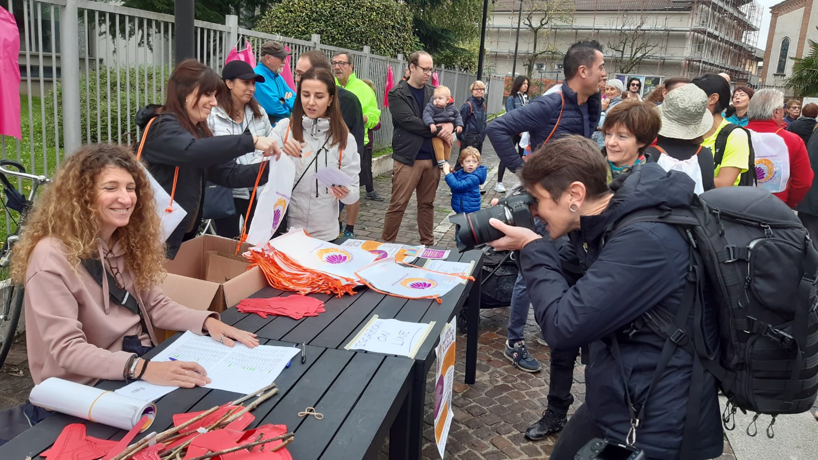
[[[159,348],[171,341],[173,338]],[[293,345],[261,341],[263,345]],[[267,423],[286,425],[295,433],[287,449],[299,460],[375,458],[388,432],[389,456],[400,457],[407,449],[407,396],[413,368],[414,362],[407,358],[308,345],[307,362],[302,364],[296,356],[290,368],[281,372],[276,378],[279,393],[255,408],[251,427]],[[98,386],[115,390],[123,385],[122,381],[103,381]],[[156,403],[157,416],[148,431],[159,432],[173,426],[173,414],[206,410],[238,397],[236,393],[202,387],[174,390]],[[323,413],[323,420],[299,417],[298,413],[308,406]],[[88,435],[101,439],[119,440],[125,433],[111,426],[55,414],[0,447],[0,458],[36,458],[51,447],[66,425],[77,422],[87,426]]]

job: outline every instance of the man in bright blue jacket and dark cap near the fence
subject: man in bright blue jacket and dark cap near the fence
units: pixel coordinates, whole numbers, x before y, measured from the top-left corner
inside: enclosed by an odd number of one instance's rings
[[[261,46],[261,59],[254,69],[256,74],[264,77],[264,83],[256,84],[256,101],[264,107],[274,126],[278,120],[290,117],[295,103],[293,90],[278,74],[289,54],[281,43],[265,42]]]

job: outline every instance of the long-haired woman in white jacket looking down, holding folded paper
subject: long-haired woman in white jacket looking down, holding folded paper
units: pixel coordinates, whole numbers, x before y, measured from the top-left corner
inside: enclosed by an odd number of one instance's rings
[[[312,237],[331,241],[338,237],[338,201],[352,205],[359,199],[358,174],[361,157],[349,133],[338,101],[335,78],[326,69],[310,69],[301,76],[298,97],[290,120],[272,129],[272,138],[282,145],[290,138],[302,142],[301,158],[291,157],[295,178],[287,226],[303,228]],[[340,169],[352,183],[348,187],[318,183],[321,169]]]

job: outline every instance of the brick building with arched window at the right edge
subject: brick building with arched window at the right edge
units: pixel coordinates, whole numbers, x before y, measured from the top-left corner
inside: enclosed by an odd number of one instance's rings
[[[810,52],[808,40],[818,41],[818,0],[787,0],[772,6],[770,12],[762,83],[791,96],[792,90],[784,87],[784,79],[793,70],[795,62],[791,58]]]

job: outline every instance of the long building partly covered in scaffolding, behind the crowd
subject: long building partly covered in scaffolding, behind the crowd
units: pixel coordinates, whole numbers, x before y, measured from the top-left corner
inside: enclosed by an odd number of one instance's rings
[[[791,0],[799,1],[799,0]],[[818,0],[816,0],[818,1]],[[526,74],[534,34],[528,11],[555,0],[498,0],[488,25],[488,56],[496,74]],[[726,72],[735,82],[754,82],[761,7],[750,0],[574,0],[571,20],[549,25],[537,38],[532,76],[561,78],[571,43],[596,39],[605,46],[609,74],[684,75]],[[517,24],[522,5],[523,21]],[[533,16],[535,24],[537,15]],[[517,59],[515,65],[515,43]]]

